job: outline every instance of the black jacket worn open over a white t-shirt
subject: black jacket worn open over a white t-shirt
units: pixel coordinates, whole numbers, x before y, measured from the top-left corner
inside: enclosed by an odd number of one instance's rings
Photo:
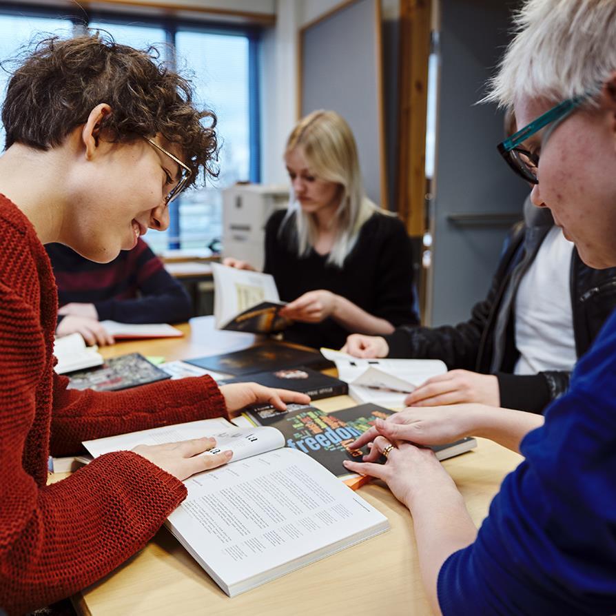
[[[549,402],[565,393],[571,373],[546,371],[531,376],[513,374],[520,355],[515,348],[515,302],[511,302],[507,315],[504,348],[495,349],[495,324],[502,309],[503,296],[511,282],[511,273],[520,263],[524,251],[532,250],[536,254],[553,225],[547,209],[537,210],[531,218],[526,218],[527,223],[518,223],[513,227],[488,296],[473,307],[468,321],[455,327],[402,326],[384,338],[389,344],[389,357],[440,359],[450,370],[495,373],[502,407],[542,413]],[[591,347],[616,307],[616,267],[592,269],[582,263],[574,247],[570,288],[575,349],[579,358]],[[492,366],[495,351],[502,357],[497,367]]]

